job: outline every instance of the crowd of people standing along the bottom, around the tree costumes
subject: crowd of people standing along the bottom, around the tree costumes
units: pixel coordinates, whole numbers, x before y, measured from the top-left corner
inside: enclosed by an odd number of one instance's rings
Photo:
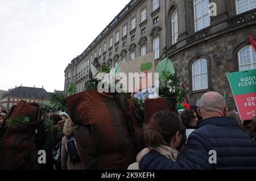
[[[39,169],[85,169],[77,149],[79,125],[65,112],[47,116],[55,128],[45,130],[39,125],[34,137],[36,149],[46,151],[46,163],[39,164]],[[1,111],[1,125],[5,117],[6,112]],[[217,92],[207,92],[200,107],[180,114],[156,112],[141,132],[140,149],[129,170],[256,169],[256,117],[241,121],[236,110],[228,112]],[[216,151],[213,162],[209,161],[211,151]]]

